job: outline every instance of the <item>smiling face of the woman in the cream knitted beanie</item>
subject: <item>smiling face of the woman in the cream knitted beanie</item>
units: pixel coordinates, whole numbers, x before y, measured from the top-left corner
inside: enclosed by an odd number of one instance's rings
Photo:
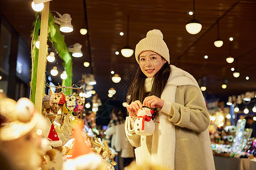
[[[155,52],[144,51],[139,54],[139,67],[148,78],[158,73],[164,63],[166,63],[166,60]]]

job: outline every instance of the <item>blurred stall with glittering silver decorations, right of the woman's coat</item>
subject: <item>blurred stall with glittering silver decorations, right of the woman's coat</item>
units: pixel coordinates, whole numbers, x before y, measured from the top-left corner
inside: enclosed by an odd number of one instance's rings
[[[247,95],[247,97],[251,96],[250,101],[254,103],[255,93],[250,93],[251,95]],[[252,124],[250,124],[248,112],[241,113],[241,111],[234,110],[234,106],[237,106],[238,103],[247,105],[250,103],[245,101],[249,99],[243,100],[246,96],[245,94],[242,96],[238,97],[238,100],[233,96],[233,101],[230,101],[230,107],[225,108],[223,103],[217,104],[217,102],[209,105],[211,120],[209,133],[216,169],[256,168],[256,138],[253,135],[255,122],[252,121]],[[254,118],[251,117],[251,120],[254,120]]]

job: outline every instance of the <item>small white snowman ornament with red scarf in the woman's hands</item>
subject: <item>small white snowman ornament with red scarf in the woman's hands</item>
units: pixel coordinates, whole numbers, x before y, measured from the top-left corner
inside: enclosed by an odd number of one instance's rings
[[[138,135],[152,135],[155,130],[155,122],[152,120],[154,111],[149,108],[141,108],[137,111],[137,120],[134,123],[135,133]]]

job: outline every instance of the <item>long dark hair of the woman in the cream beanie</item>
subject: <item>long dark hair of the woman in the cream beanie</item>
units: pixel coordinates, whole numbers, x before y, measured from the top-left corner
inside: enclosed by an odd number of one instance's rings
[[[152,84],[150,96],[155,95],[157,97],[161,97],[161,94],[166,86],[167,80],[171,74],[171,67],[168,62],[164,63],[162,68],[155,74],[155,78]],[[147,78],[146,75],[141,70],[141,67],[137,70],[135,74],[133,83],[127,92],[127,103],[131,104],[132,101],[139,100],[141,103],[146,97],[144,82]]]

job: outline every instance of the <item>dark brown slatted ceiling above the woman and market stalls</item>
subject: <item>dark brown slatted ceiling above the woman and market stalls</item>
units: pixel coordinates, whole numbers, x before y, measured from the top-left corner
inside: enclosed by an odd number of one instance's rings
[[[30,35],[35,20],[31,2],[0,1],[2,14],[28,46],[31,44]],[[135,49],[147,31],[160,29],[170,49],[171,63],[191,73],[199,84],[205,82],[207,90],[204,93],[207,99],[227,100],[229,95],[256,90],[256,1],[197,0],[196,19],[203,25],[197,35],[190,35],[185,30],[185,24],[192,19],[188,15],[188,11],[193,10],[192,0],[85,2],[86,15],[82,0],[53,0],[49,7],[51,11],[71,15],[74,31],[63,33],[67,46],[76,42],[82,44],[84,56],[73,58],[73,83],[77,83],[82,74],[94,74],[97,81],[94,90],[100,98],[108,97],[110,87],[118,88],[119,93],[124,92],[135,67],[138,67],[134,54],[130,58],[122,57],[121,53],[115,55],[116,51],[120,52],[126,45],[127,15],[130,17],[129,45]],[[52,14],[56,15],[55,12]],[[220,39],[224,41],[221,48],[213,45],[217,39],[217,21]],[[79,29],[82,27],[88,28],[89,36],[80,35]],[[119,32],[125,35],[120,36]],[[235,62],[231,64],[225,61],[230,52],[229,37],[234,38],[231,54]],[[209,58],[205,59],[205,55]],[[84,61],[90,61],[89,68],[83,66]],[[52,66],[49,63],[47,68],[51,69]],[[231,67],[239,69],[239,78],[233,77]],[[121,83],[112,82],[111,70],[122,76]],[[250,79],[246,80],[246,76]],[[58,78],[53,79],[61,82]],[[228,87],[224,90],[221,84],[226,80]],[[119,96],[122,98],[123,94]]]

